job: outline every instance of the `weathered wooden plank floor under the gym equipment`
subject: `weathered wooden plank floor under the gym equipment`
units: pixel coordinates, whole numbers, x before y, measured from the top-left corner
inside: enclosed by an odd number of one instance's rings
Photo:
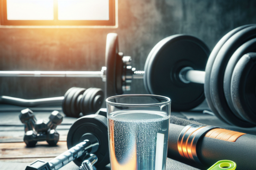
[[[27,148],[23,142],[24,124],[22,124],[19,119],[19,114],[22,109],[24,108],[0,105],[0,170],[24,170],[29,163],[37,159],[49,161],[67,150],[66,138],[68,130],[76,118],[63,118],[63,122],[56,129],[60,133],[60,141],[57,146],[49,147],[47,142],[42,141],[38,142],[35,148]],[[48,120],[50,113],[53,110],[61,111],[61,107],[32,108],[32,110],[37,120]],[[256,133],[256,128],[232,127],[224,124],[215,116],[203,114],[202,111],[172,112],[171,114],[177,117],[197,120],[207,125],[225,127],[249,134]],[[61,168],[61,170],[78,169],[79,168],[73,162]],[[109,170],[109,168],[106,168],[106,170]]]

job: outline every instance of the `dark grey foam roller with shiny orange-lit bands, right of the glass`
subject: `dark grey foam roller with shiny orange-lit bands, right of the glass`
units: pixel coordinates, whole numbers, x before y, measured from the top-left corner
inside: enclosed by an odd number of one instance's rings
[[[256,136],[203,124],[170,124],[168,157],[206,169],[229,159],[236,170],[256,170]]]

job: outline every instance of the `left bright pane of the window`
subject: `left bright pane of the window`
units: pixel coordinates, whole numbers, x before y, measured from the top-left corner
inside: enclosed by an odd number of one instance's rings
[[[7,20],[53,20],[53,0],[7,0]]]

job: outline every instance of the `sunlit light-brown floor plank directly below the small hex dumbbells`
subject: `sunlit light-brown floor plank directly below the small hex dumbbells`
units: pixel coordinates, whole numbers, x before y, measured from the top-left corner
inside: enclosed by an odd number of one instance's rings
[[[27,148],[24,142],[0,143],[0,161],[18,158],[49,158],[57,157],[67,150],[66,142],[58,142],[50,147],[46,141],[38,142],[35,148]]]

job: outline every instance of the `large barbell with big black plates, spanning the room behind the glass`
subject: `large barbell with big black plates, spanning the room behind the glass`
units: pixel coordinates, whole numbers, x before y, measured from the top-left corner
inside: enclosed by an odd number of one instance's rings
[[[119,52],[117,34],[110,33],[101,71],[0,71],[0,76],[101,77],[106,97],[122,95],[131,89],[133,79],[144,79],[146,91],[170,97],[173,110],[194,108],[206,97],[208,106],[222,121],[255,127],[255,37],[256,25],[238,27],[227,33],[210,53],[207,45],[194,36],[172,35],[151,50],[144,71],[136,71],[131,65],[132,58]],[[239,66],[246,62],[250,67]]]

